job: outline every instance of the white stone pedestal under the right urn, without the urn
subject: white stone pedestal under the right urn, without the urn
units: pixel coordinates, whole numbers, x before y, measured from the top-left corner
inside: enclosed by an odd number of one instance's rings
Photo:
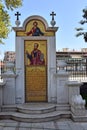
[[[57,103],[67,104],[69,102],[67,81],[69,74],[67,72],[57,73]]]

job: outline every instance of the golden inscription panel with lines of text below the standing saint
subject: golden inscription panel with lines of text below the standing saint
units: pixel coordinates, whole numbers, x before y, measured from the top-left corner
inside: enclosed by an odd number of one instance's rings
[[[26,66],[26,101],[46,101],[46,67]]]

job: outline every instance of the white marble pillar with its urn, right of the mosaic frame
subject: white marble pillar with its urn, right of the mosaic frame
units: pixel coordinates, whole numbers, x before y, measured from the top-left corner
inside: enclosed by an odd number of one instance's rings
[[[57,67],[59,68],[56,76],[57,80],[57,103],[67,104],[69,102],[67,81],[69,80],[69,73],[66,72],[65,67],[67,64],[64,60],[57,61]]]

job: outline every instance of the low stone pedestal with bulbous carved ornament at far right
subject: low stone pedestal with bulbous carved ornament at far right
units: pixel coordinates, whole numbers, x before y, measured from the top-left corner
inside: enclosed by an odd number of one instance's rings
[[[71,105],[71,112],[75,116],[84,116],[86,114],[85,111],[85,103],[86,101],[82,99],[80,95],[80,86],[81,82],[70,81],[68,82],[69,87],[69,104]]]

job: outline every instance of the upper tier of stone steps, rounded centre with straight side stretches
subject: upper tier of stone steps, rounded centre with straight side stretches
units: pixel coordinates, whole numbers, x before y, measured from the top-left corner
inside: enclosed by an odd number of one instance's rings
[[[43,114],[53,111],[70,111],[69,104],[51,104],[51,103],[25,103],[22,105],[3,105],[2,112],[21,112],[28,114]]]

